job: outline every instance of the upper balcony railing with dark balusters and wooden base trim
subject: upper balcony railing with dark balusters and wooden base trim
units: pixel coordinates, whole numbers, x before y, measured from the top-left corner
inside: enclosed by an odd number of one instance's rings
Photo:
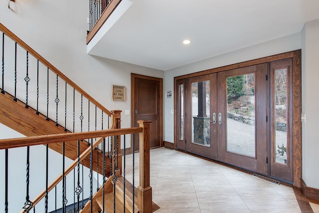
[[[86,37],[87,44],[120,2],[121,0],[90,0],[90,30]]]

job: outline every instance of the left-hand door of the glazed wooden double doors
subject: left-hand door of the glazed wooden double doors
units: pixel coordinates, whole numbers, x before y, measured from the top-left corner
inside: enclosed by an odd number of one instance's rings
[[[184,85],[185,151],[210,159],[217,159],[216,76],[188,78]]]

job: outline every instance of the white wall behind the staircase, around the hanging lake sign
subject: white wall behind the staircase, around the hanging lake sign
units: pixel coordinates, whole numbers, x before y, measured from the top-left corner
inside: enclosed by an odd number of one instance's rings
[[[11,8],[0,4],[4,26],[108,110],[122,110],[121,126],[131,127],[131,115],[124,113],[131,109],[131,73],[164,78],[163,71],[88,55],[88,0],[17,0]],[[112,84],[126,86],[125,102],[112,101]]]

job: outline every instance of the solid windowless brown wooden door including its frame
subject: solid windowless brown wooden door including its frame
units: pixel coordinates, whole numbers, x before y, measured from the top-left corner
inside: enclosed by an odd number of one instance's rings
[[[132,127],[138,120],[152,121],[150,147],[160,147],[162,141],[162,79],[132,74]],[[139,134],[134,135],[134,151],[139,150]]]

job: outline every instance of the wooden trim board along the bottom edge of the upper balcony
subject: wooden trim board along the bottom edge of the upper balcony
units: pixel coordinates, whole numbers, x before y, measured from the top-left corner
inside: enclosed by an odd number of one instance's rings
[[[110,4],[106,7],[99,20],[95,23],[89,34],[86,36],[86,44],[88,44],[94,35],[103,26],[104,22],[110,17],[115,8],[119,5],[122,0],[111,0]]]

